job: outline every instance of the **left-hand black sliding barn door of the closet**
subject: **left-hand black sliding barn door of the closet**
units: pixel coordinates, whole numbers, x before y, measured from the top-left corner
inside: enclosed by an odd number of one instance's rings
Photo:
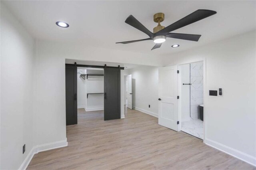
[[[77,124],[77,67],[66,65],[66,125]]]

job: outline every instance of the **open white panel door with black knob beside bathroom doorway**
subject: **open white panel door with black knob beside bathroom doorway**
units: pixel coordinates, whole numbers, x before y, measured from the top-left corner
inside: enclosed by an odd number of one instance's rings
[[[158,124],[178,130],[177,65],[159,68]]]

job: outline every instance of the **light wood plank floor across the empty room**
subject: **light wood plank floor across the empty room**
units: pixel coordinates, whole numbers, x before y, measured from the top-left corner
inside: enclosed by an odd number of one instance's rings
[[[68,146],[40,152],[28,169],[256,169],[184,132],[158,125],[136,110],[125,119],[103,120],[103,111],[78,109],[67,126]]]

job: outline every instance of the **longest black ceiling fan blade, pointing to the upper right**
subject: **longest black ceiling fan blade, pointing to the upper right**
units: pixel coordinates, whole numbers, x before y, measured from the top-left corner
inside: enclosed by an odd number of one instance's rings
[[[174,22],[170,26],[167,26],[166,28],[158,31],[156,35],[172,32],[174,30],[177,30],[179,28],[182,28],[184,26],[187,26],[189,24],[192,24],[194,22],[207,18],[209,16],[212,16],[216,13],[217,13],[216,11],[212,11],[212,10],[196,10],[195,12],[192,12],[188,16],[185,16],[184,18]]]

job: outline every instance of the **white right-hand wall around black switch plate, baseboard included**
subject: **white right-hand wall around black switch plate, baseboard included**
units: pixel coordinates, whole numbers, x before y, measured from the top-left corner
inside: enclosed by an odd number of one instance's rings
[[[206,144],[256,165],[256,32],[166,56],[166,65],[206,59]],[[222,88],[222,96],[209,90]]]

